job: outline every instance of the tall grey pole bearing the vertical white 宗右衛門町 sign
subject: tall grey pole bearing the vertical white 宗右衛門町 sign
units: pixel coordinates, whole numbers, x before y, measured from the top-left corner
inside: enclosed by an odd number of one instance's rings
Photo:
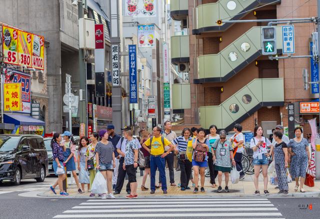
[[[111,68],[112,68],[112,123],[115,132],[121,133],[122,99],[121,99],[121,63],[120,63],[120,12],[121,1],[109,0],[111,15]]]

